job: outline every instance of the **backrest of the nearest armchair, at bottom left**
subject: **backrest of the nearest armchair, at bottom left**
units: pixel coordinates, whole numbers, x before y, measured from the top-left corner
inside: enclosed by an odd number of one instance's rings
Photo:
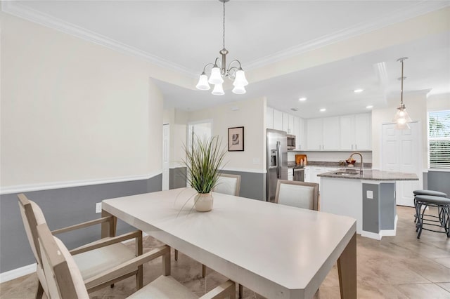
[[[37,234],[50,298],[88,299],[82,274],[68,248],[53,237],[45,223],[37,226]]]

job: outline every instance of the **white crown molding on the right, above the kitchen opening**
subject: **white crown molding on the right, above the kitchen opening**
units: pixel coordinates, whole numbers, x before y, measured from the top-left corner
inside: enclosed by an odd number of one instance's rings
[[[392,13],[390,13],[389,15],[386,15],[383,18],[378,18],[373,22],[364,22],[354,27],[348,27],[331,34],[326,34],[319,37],[318,39],[312,39],[311,41],[307,41],[303,44],[287,48],[273,55],[267,55],[264,58],[259,58],[257,60],[247,62],[245,63],[245,69],[256,69],[259,67],[264,67],[271,63],[291,58],[295,55],[300,55],[316,48],[329,46],[330,44],[335,44],[339,41],[344,41],[345,39],[349,39],[354,36],[366,34],[376,29],[381,29],[383,27],[394,25],[399,22],[404,22],[405,20],[409,20],[411,18],[416,18],[419,15],[425,15],[426,13],[431,13],[432,11],[438,11],[439,9],[445,8],[447,6],[450,6],[450,2],[420,1],[418,4],[414,4],[409,8],[392,11]]]

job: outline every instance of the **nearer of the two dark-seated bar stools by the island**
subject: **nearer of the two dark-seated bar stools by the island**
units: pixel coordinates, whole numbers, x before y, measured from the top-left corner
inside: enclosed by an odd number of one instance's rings
[[[447,237],[450,237],[450,199],[445,197],[436,197],[432,195],[416,195],[415,197],[416,204],[418,206],[418,220],[416,224],[416,232],[417,239],[420,239],[420,234],[422,234],[422,230],[429,230],[430,232],[442,232],[442,230],[430,230],[428,228],[423,227],[423,225],[433,225],[437,227],[444,227],[444,234]],[[425,210],[428,206],[435,206],[439,210],[439,216],[434,216],[439,218],[439,220],[430,220],[425,219]],[[422,211],[423,208],[423,211]],[[420,213],[420,211],[422,211]],[[424,222],[426,220],[427,222]],[[438,222],[439,225],[433,224],[430,222]]]

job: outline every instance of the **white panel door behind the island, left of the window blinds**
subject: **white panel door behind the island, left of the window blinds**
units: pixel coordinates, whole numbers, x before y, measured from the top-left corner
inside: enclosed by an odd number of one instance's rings
[[[413,190],[422,189],[420,125],[409,124],[410,129],[398,130],[394,124],[383,125],[382,170],[416,173],[419,180],[396,182],[396,200],[401,206],[414,206]]]

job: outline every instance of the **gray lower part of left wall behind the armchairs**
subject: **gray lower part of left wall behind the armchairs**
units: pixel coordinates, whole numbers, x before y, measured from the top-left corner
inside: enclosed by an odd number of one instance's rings
[[[95,208],[103,199],[160,191],[161,185],[162,175],[157,175],[148,180],[25,192],[25,195],[41,207],[50,230],[56,230],[100,218]],[[100,225],[96,225],[58,237],[68,248],[75,248],[98,239],[100,230]],[[131,230],[134,228],[120,220],[117,222],[117,234]],[[36,263],[23,227],[17,194],[0,197],[0,253],[2,273]]]

